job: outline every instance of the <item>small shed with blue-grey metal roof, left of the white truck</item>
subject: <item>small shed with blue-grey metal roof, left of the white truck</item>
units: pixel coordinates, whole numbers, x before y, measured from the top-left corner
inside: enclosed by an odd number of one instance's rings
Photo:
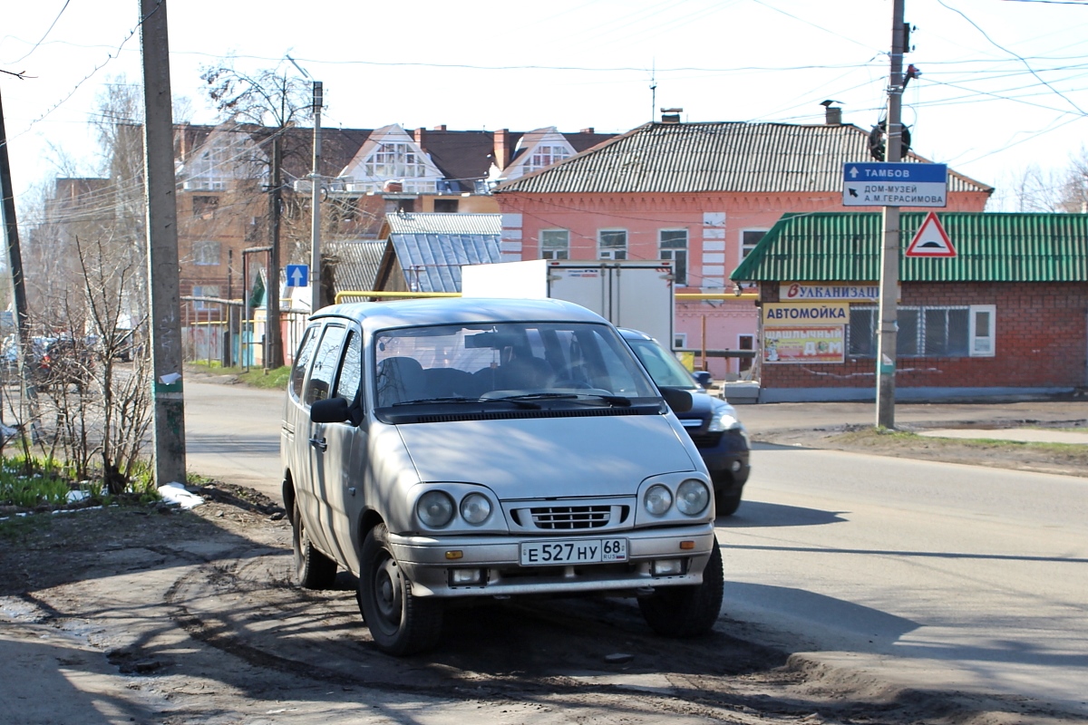
[[[459,292],[461,265],[516,261],[504,254],[498,214],[390,214],[375,289]]]

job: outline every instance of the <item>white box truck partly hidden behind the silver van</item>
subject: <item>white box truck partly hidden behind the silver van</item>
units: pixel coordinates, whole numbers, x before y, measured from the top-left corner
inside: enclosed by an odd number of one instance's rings
[[[672,349],[672,263],[529,260],[461,267],[463,297],[567,300]]]

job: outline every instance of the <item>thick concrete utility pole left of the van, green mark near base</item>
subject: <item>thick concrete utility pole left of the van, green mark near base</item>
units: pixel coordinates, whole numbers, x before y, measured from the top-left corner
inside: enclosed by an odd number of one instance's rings
[[[144,55],[144,176],[147,195],[151,401],[154,480],[185,483],[185,399],[182,388],[181,299],[174,122],[170,93],[166,0],[139,0]]]

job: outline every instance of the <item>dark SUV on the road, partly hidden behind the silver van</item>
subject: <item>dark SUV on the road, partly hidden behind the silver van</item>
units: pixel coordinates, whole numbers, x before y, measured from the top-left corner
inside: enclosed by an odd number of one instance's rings
[[[692,393],[691,410],[677,413],[695,442],[714,483],[715,513],[729,516],[741,504],[741,493],[752,466],[749,436],[733,407],[715,398],[657,340],[635,329],[620,328],[634,354],[645,365],[657,387],[683,388]]]

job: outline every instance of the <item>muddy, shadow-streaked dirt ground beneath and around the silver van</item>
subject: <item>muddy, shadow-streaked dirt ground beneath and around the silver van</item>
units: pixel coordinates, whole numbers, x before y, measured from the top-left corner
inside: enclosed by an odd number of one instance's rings
[[[0,721],[341,723],[1024,722],[1019,698],[897,690],[752,643],[724,616],[651,634],[631,600],[453,611],[434,652],[378,652],[355,580],[292,583],[276,502],[214,484],[193,511],[113,508],[0,522]]]

